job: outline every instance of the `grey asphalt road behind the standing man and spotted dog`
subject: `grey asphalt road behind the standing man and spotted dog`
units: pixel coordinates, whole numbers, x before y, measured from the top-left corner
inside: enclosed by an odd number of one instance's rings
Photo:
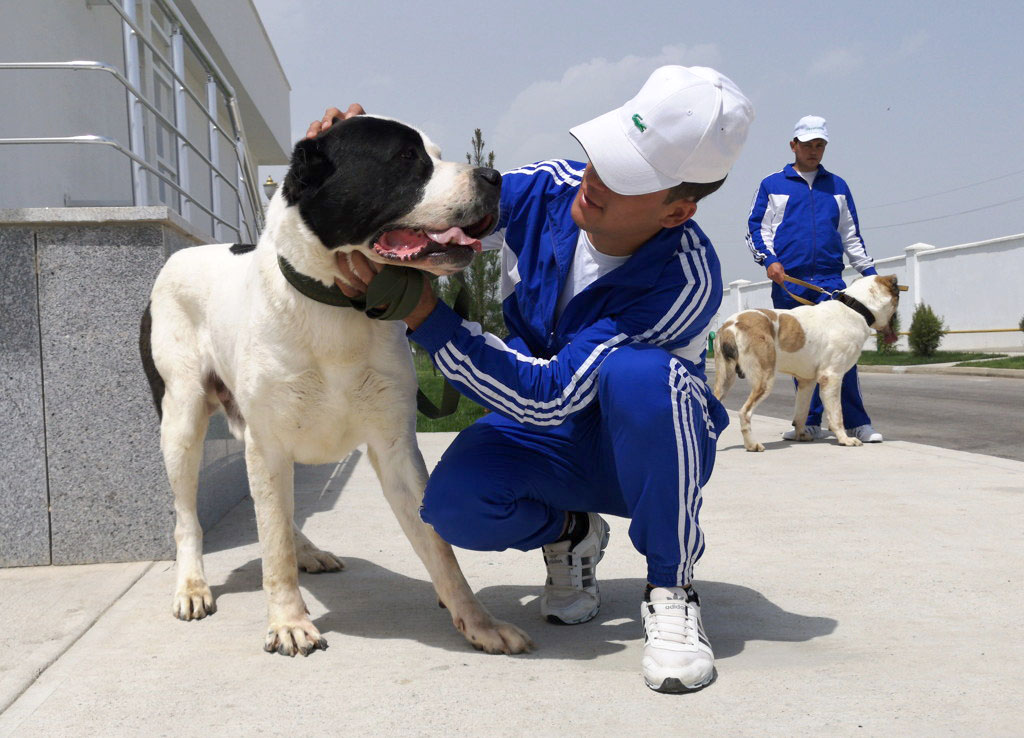
[[[1024,380],[861,373],[860,386],[871,424],[887,439],[1024,461]],[[749,391],[737,380],[725,406],[739,409]],[[755,410],[755,435],[759,415],[791,419],[794,397],[792,380],[779,377]]]

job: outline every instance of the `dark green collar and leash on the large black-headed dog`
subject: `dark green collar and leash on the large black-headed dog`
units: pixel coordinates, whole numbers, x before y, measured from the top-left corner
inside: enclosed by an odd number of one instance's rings
[[[288,259],[281,255],[278,256],[278,265],[288,284],[310,300],[334,307],[349,307],[376,320],[400,320],[416,308],[420,302],[420,295],[423,294],[423,277],[420,276],[422,272],[409,267],[386,264],[370,283],[366,298],[353,299],[345,295],[337,285],[327,287],[318,279],[299,273]],[[469,291],[466,289],[466,280],[462,274],[456,274],[455,279],[459,284],[459,290],[455,296],[455,305],[452,307],[459,317],[468,319]],[[373,307],[368,308],[367,305]],[[379,305],[384,307],[378,307]],[[441,389],[440,406],[434,404],[423,390],[417,387],[416,408],[430,420],[446,418],[459,408],[460,397],[459,390],[445,379]]]

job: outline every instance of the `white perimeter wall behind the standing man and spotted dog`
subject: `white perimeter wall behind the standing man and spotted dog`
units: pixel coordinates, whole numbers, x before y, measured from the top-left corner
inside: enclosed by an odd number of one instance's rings
[[[1017,331],[1024,317],[1024,233],[936,249],[914,244],[902,256],[878,259],[880,274],[896,274],[910,290],[900,301],[900,330],[910,328],[914,307],[924,302],[942,317],[950,333],[941,349],[1024,350],[1024,333]],[[857,278],[853,269],[843,272],[847,284]],[[738,279],[729,284],[713,330],[738,310],[771,307],[771,281]],[[1011,333],[980,333],[992,329],[1015,329]],[[900,338],[906,348],[906,337]],[[873,349],[873,337],[864,344]]]

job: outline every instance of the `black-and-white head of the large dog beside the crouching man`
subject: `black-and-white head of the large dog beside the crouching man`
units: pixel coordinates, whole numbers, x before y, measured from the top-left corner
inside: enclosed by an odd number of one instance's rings
[[[444,162],[420,131],[357,116],[295,145],[282,185],[330,252],[435,274],[464,269],[498,223],[501,175]]]

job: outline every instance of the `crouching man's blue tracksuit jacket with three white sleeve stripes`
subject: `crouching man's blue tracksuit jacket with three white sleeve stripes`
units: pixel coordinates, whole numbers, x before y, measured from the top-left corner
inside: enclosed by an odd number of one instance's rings
[[[460,392],[520,423],[559,425],[590,406],[601,362],[633,343],[682,356],[703,379],[722,277],[714,248],[692,221],[662,230],[555,320],[580,234],[569,209],[583,170],[554,160],[502,177],[504,342],[443,303],[410,335]]]

